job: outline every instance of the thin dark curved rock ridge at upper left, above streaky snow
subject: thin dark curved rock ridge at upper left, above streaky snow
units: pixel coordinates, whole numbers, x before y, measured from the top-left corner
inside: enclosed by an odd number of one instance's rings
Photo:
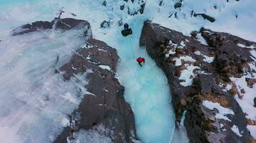
[[[59,19],[55,18],[55,20],[49,21],[35,21],[32,24],[25,24],[17,27],[12,31],[12,36],[17,36],[21,34],[27,34],[29,32],[46,30],[46,29],[63,29],[70,30],[73,28],[85,28],[90,29],[90,24],[88,21],[80,20],[80,19]]]

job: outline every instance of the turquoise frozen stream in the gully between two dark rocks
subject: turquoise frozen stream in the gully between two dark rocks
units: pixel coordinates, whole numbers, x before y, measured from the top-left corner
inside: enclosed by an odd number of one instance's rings
[[[147,143],[168,143],[175,128],[170,89],[163,71],[148,56],[145,47],[139,47],[143,21],[142,16],[128,19],[132,35],[122,36],[120,27],[109,31],[105,41],[115,47],[121,57],[119,79],[125,87],[124,97],[134,111],[138,136]],[[139,56],[146,59],[143,67],[137,64]]]

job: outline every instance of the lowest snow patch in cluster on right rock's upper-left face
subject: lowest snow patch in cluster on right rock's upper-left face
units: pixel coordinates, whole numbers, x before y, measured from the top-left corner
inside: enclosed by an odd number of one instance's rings
[[[180,77],[178,79],[183,80],[180,84],[183,87],[188,87],[193,84],[193,78],[196,77],[196,74],[193,73],[194,69],[200,69],[198,66],[193,66],[189,64],[184,64],[186,69],[181,71]]]

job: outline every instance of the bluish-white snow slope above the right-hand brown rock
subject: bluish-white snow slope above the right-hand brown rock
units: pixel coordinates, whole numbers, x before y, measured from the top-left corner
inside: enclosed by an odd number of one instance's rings
[[[181,31],[190,36],[191,31],[199,30],[201,27],[214,31],[224,31],[250,41],[255,41],[256,34],[256,4],[251,0],[235,1],[230,0],[187,0],[183,1],[180,9],[175,9],[177,1],[163,1],[159,6],[159,1],[147,1],[150,9],[145,9],[145,14],[150,20],[161,26]],[[216,9],[214,9],[216,6]],[[201,16],[191,16],[191,11],[196,14],[205,13],[213,16],[216,21],[211,23]],[[177,19],[175,18],[177,12]],[[170,16],[173,14],[172,16]],[[237,18],[236,18],[237,15]],[[168,18],[170,16],[170,18]]]

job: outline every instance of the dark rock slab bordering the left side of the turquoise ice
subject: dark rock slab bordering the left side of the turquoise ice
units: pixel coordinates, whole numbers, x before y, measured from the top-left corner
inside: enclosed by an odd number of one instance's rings
[[[91,70],[86,74],[88,94],[76,111],[81,116],[78,129],[93,129],[104,124],[104,134],[112,142],[135,142],[134,115],[124,101],[124,87],[114,77],[119,56],[103,41],[88,39],[86,44],[59,69],[64,71],[65,80]],[[111,70],[102,69],[100,65],[109,66]],[[63,132],[56,142],[66,142],[67,136],[68,132]]]

